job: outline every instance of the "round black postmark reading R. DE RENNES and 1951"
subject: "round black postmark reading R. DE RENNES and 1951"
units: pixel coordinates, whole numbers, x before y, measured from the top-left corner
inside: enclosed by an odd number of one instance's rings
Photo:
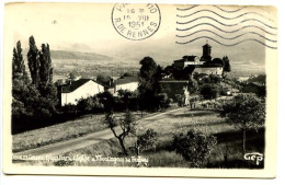
[[[116,32],[127,39],[141,41],[159,28],[161,14],[157,4],[117,3],[112,11]]]

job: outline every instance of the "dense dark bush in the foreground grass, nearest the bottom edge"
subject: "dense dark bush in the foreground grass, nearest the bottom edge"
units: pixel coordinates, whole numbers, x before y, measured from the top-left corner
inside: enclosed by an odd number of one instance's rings
[[[217,144],[215,136],[208,136],[201,131],[189,130],[174,135],[173,148],[189,162],[190,167],[204,167],[207,155]]]

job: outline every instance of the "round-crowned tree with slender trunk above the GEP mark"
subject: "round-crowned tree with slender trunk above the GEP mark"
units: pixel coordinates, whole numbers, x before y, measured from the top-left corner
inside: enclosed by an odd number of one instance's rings
[[[246,131],[258,130],[264,126],[265,105],[254,95],[239,94],[232,103],[223,106],[220,115],[226,117],[235,127],[241,129],[243,134],[242,147],[246,153]]]

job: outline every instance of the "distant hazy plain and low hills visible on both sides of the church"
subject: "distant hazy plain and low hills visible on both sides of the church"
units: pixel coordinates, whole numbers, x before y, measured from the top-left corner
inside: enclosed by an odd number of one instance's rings
[[[24,49],[24,60],[26,59],[26,54],[29,49]],[[119,76],[126,71],[137,71],[139,70],[139,60],[144,58],[144,55],[133,56],[133,55],[101,55],[96,53],[83,53],[83,51],[72,51],[72,50],[50,50],[52,59],[54,65],[54,77],[56,79],[66,77],[70,71],[78,71],[84,77],[94,77],[98,73],[117,74]],[[151,54],[150,57],[162,67],[172,65],[172,60],[157,60],[156,58],[161,55]],[[181,56],[182,57],[182,56]],[[233,57],[232,57],[233,58]],[[260,73],[264,71],[264,65],[254,63],[252,61],[237,61],[230,58],[231,72],[229,76],[248,76]],[[178,55],[179,59],[179,55]],[[83,61],[83,62],[82,62]],[[262,72],[263,73],[263,72]]]

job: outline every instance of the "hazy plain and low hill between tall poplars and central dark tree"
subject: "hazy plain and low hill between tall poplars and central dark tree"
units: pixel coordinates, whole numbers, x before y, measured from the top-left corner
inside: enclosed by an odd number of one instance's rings
[[[139,60],[113,58],[95,53],[52,50],[50,55],[54,66],[54,81],[66,79],[71,71],[76,71],[83,78],[94,78],[99,73],[121,76],[124,72],[139,69]]]

